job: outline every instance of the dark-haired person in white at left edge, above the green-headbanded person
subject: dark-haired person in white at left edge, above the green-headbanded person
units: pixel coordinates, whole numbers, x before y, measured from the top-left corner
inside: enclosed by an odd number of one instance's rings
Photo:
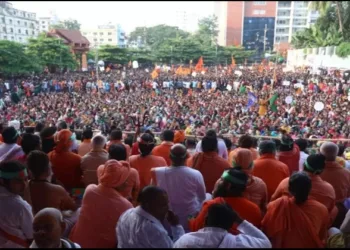
[[[0,162],[18,159],[24,155],[20,146],[17,145],[19,134],[14,127],[7,127],[2,132],[4,143],[0,144]]]

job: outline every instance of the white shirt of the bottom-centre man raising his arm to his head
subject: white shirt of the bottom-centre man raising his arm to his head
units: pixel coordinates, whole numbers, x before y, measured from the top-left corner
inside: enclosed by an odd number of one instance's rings
[[[271,248],[269,239],[248,221],[243,221],[233,235],[216,227],[205,227],[178,239],[174,248]]]

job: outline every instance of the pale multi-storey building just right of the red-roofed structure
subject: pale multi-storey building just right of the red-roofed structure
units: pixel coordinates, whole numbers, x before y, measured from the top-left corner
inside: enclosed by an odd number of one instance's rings
[[[92,46],[116,45],[124,48],[126,46],[125,32],[118,25],[99,25],[94,29],[82,29],[83,35]]]

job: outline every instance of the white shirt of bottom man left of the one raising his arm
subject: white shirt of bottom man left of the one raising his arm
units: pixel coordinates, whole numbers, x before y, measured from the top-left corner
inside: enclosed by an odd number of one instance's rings
[[[172,248],[174,244],[162,223],[140,206],[125,211],[116,230],[118,248]],[[174,241],[185,234],[180,225],[171,231]]]

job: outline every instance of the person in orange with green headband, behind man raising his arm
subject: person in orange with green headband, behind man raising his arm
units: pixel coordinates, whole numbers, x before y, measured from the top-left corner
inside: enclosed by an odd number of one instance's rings
[[[260,208],[243,197],[248,182],[248,176],[237,169],[226,170],[215,185],[213,199],[205,201],[196,218],[189,220],[189,228],[196,232],[204,227],[208,209],[213,204],[227,203],[244,220],[260,227],[262,213]],[[229,230],[232,234],[238,234],[237,225]]]

